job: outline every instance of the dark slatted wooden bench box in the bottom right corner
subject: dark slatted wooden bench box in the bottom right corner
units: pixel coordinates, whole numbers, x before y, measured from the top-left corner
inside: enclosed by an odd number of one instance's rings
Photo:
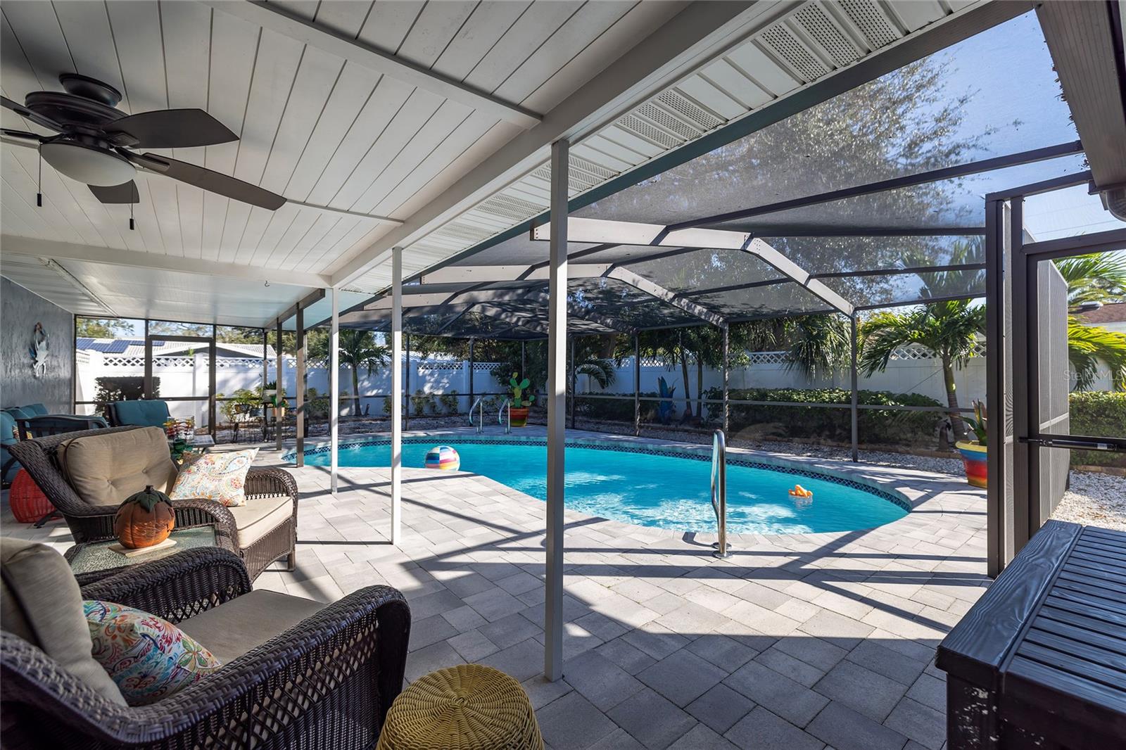
[[[1126,533],[1049,520],[936,664],[950,750],[1126,748]]]

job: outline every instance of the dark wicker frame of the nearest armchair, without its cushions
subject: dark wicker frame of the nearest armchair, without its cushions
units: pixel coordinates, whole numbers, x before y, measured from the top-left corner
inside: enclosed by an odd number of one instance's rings
[[[189,550],[82,587],[180,623],[250,591],[241,561]],[[5,748],[373,748],[399,695],[410,608],[386,586],[325,606],[159,703],[113,703],[0,633]],[[206,644],[205,644],[206,645]]]

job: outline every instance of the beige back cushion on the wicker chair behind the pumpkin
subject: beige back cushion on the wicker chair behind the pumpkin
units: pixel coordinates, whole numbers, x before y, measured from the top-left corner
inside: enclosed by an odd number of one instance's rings
[[[152,484],[169,492],[176,464],[159,427],[87,435],[59,446],[59,465],[78,495],[91,506],[117,506]]]

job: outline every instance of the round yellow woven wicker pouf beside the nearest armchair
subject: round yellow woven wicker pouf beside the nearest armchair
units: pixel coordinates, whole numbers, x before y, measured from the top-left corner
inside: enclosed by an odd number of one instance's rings
[[[520,684],[492,667],[459,664],[403,690],[383,724],[378,750],[543,750]]]

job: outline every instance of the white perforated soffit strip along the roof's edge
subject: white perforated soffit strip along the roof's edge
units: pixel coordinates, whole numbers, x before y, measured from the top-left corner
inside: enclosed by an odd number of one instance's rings
[[[570,194],[602,182],[770,106],[975,0],[807,0],[741,44],[571,145]],[[410,245],[404,271],[425,270],[547,209],[547,162]],[[375,267],[356,284],[391,283]]]

